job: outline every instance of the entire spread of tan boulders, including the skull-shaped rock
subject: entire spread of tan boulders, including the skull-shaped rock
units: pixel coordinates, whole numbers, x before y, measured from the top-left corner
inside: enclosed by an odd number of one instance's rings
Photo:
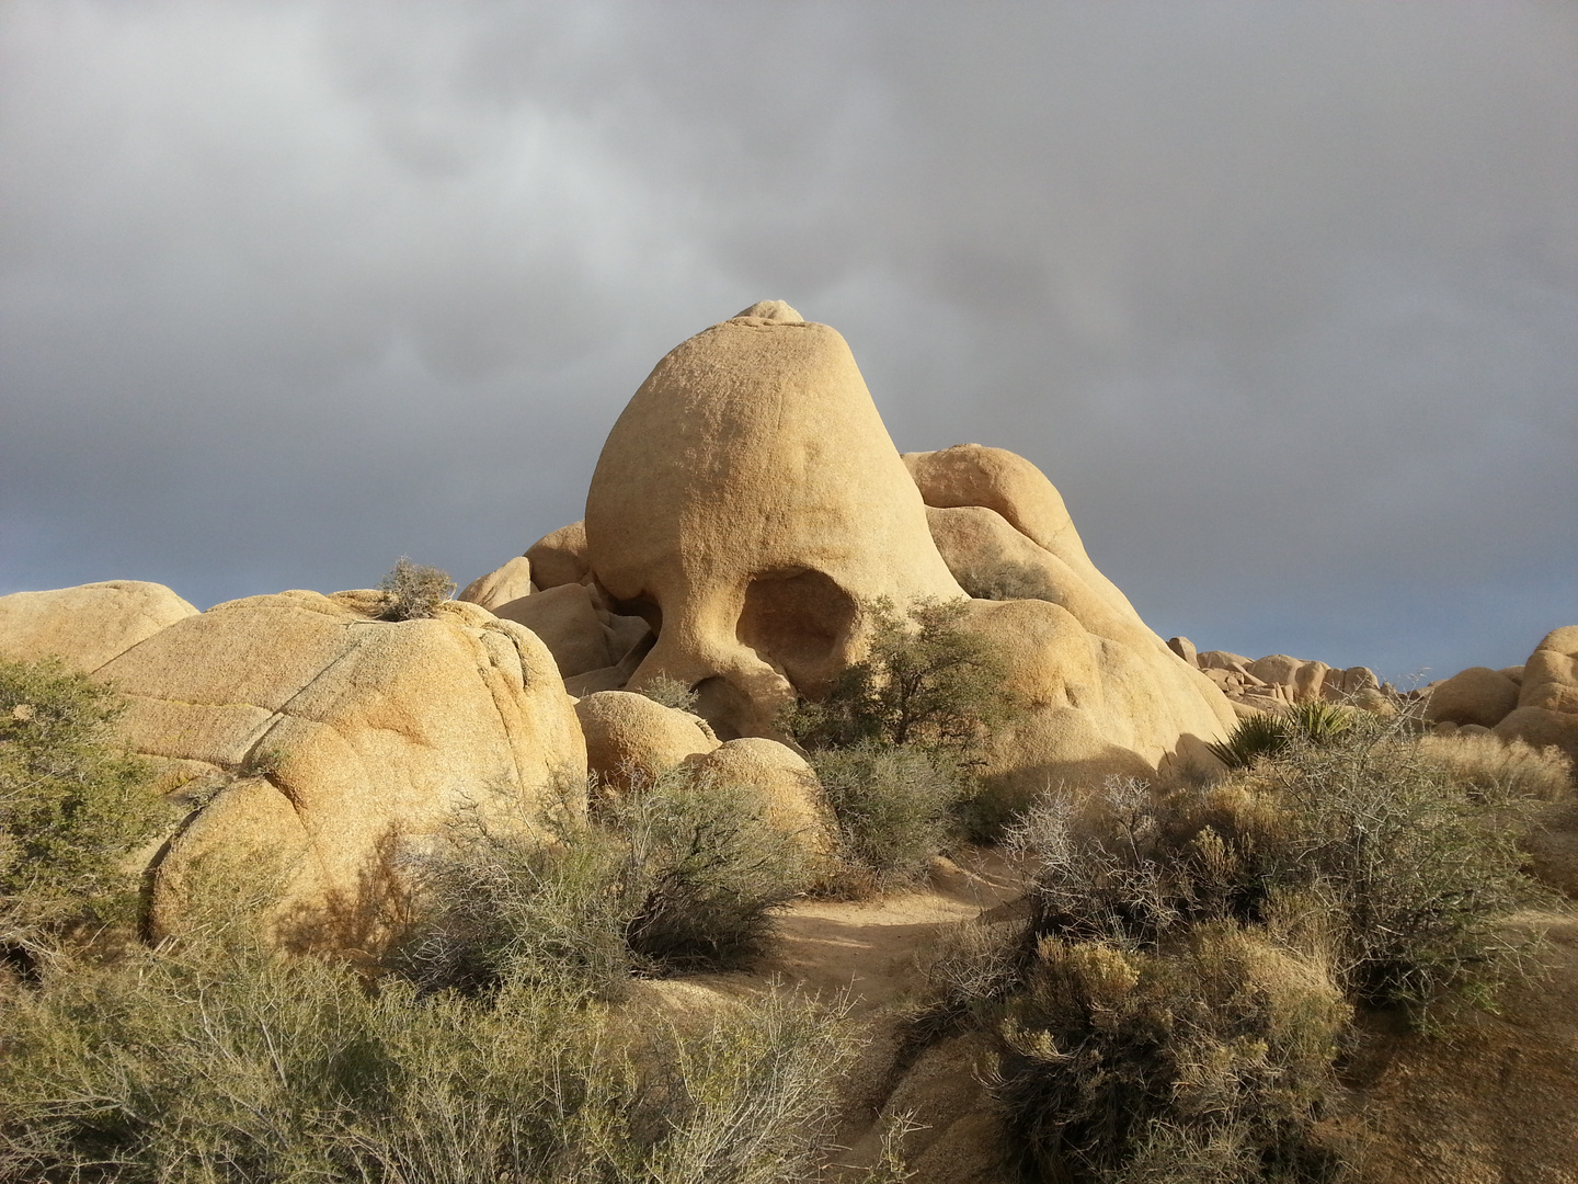
[[[764,302],[677,346],[609,433],[585,518],[432,617],[387,594],[281,592],[199,613],[158,584],[0,597],[0,654],[58,654],[129,698],[126,747],[185,818],[147,852],[155,931],[221,865],[281,876],[281,942],[376,950],[402,868],[461,813],[585,810],[675,769],[748,781],[828,843],[781,709],[817,699],[884,611],[967,600],[1015,721],[986,775],[1023,797],[1215,764],[1261,710],[1382,707],[1362,666],[1163,641],[1090,562],[1053,483],[1002,448],[901,456],[844,339]],[[679,688],[694,710],[639,695]],[[1433,688],[1438,728],[1578,755],[1578,627],[1524,668]]]

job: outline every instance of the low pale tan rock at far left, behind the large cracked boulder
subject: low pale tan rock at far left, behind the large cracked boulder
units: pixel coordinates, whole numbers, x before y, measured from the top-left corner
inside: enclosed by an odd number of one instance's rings
[[[50,654],[96,671],[197,609],[164,584],[109,579],[0,597],[0,654],[35,661]]]

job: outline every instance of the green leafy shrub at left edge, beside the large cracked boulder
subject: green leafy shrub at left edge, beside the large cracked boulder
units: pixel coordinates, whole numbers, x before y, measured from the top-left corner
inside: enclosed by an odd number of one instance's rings
[[[134,916],[122,864],[169,810],[112,744],[123,707],[55,658],[0,658],[0,947],[38,952],[73,922]]]

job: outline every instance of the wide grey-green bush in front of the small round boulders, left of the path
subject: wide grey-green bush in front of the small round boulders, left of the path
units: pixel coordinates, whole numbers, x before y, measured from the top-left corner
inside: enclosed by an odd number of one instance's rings
[[[611,797],[590,822],[467,813],[415,871],[426,908],[401,963],[417,982],[473,991],[570,976],[604,996],[631,974],[751,961],[811,875],[759,794],[686,769]]]

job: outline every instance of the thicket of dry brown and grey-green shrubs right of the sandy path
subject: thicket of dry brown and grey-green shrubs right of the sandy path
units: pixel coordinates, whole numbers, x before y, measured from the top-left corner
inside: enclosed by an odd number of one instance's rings
[[[1030,1176],[1335,1179],[1351,1009],[1434,1025],[1528,966],[1518,845],[1570,797],[1564,758],[1360,712],[1288,736],[1215,785],[1041,800],[1010,835],[1027,919],[933,952],[909,1048],[996,1040]]]

